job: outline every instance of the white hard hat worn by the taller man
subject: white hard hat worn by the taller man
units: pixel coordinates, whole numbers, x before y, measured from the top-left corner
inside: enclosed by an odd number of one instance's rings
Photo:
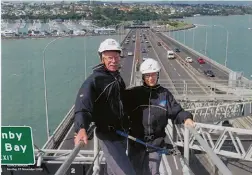
[[[119,51],[121,52],[121,46],[120,44],[114,40],[114,39],[106,39],[104,40],[101,44],[100,44],[100,47],[98,49],[98,53],[102,53],[104,51],[112,51],[112,50],[115,50],[115,51]]]

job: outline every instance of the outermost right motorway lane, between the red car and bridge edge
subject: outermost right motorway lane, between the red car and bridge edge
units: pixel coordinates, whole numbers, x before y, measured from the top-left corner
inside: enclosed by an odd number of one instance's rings
[[[206,61],[205,64],[199,64],[197,62],[197,58],[198,56],[195,55],[194,53],[188,51],[187,49],[184,49],[182,46],[180,46],[179,44],[173,42],[172,40],[170,40],[167,36],[167,37],[164,37],[161,33],[157,33],[157,36],[159,36],[160,38],[162,38],[163,41],[166,42],[166,44],[168,44],[169,46],[171,46],[172,50],[175,50],[175,48],[180,48],[180,51],[179,53],[177,53],[179,56],[181,56],[181,58],[185,59],[186,57],[190,56],[192,59],[193,59],[193,63],[191,63],[191,65],[197,70],[199,71],[200,73],[202,73],[202,75],[204,75],[204,70],[208,70],[208,69],[211,69],[215,76],[221,80],[228,80],[229,78],[229,75],[226,71],[218,68],[217,66],[209,63]],[[210,78],[210,77],[207,77],[206,78]]]

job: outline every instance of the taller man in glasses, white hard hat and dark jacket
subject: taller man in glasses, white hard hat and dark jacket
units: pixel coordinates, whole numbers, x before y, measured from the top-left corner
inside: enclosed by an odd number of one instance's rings
[[[122,144],[124,138],[115,133],[122,130],[124,109],[121,101],[125,83],[118,71],[121,47],[114,39],[100,44],[101,64],[81,86],[75,102],[75,144],[88,143],[87,130],[95,122],[96,135],[106,158],[109,175],[135,175]]]

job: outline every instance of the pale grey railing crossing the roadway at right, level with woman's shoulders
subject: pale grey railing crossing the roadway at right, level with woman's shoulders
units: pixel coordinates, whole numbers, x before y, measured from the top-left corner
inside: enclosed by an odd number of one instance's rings
[[[165,79],[159,80],[160,85],[169,89],[176,98],[182,99],[251,99],[252,97],[252,84],[240,81],[226,80],[211,80],[205,81],[204,84],[197,84],[193,80],[179,79],[169,82]],[[131,84],[130,87],[139,86],[141,84]],[[234,86],[235,85],[235,86]],[[176,92],[174,92],[174,87]]]

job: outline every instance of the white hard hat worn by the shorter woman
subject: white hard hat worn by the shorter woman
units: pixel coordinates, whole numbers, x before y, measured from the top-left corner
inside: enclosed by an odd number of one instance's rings
[[[152,58],[146,59],[140,66],[140,72],[142,74],[159,72],[160,70],[161,67],[159,63]]]

